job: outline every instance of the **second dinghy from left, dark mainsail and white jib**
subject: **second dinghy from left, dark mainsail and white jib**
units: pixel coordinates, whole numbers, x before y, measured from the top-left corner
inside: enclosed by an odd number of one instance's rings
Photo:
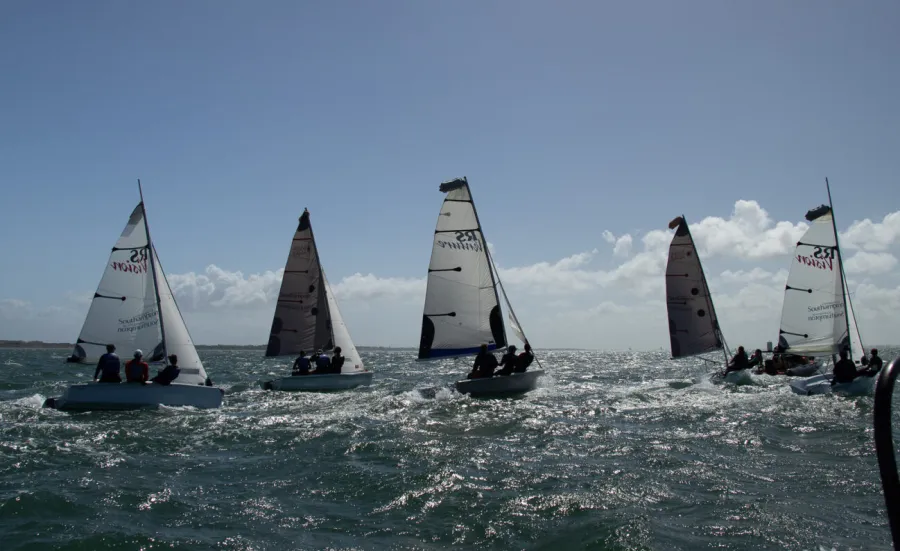
[[[309,375],[262,381],[261,386],[266,390],[323,391],[372,384],[372,372],[366,370],[350,339],[350,331],[319,263],[309,211],[304,209],[281,278],[266,356],[329,352],[335,347],[340,347],[344,356],[340,373],[313,371]]]

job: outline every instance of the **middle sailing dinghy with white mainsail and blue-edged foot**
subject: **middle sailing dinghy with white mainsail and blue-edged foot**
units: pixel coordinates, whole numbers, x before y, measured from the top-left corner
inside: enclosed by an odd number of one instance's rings
[[[440,191],[446,196],[434,231],[418,359],[473,356],[482,344],[490,351],[506,348],[498,288],[506,302],[510,327],[527,344],[487,248],[468,180],[444,182]],[[542,369],[535,369],[463,379],[455,387],[473,396],[517,394],[534,389],[543,374]]]

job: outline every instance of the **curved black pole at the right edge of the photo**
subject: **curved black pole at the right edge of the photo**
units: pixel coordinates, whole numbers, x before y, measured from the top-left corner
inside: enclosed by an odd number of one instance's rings
[[[878,376],[875,386],[875,454],[881,471],[881,489],[891,527],[894,549],[900,550],[900,476],[897,475],[897,459],[894,456],[894,437],[891,432],[891,399],[894,383],[900,375],[900,358],[895,358]]]

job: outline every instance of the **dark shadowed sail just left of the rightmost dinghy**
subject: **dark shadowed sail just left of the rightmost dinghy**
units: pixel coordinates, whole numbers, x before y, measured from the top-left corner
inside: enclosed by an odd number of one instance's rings
[[[666,308],[672,357],[723,350],[724,339],[716,310],[687,221],[679,216],[669,228],[675,229],[666,263]]]

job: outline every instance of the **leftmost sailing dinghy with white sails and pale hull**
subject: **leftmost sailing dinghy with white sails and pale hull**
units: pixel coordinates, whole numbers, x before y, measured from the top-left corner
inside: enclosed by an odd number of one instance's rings
[[[140,182],[138,182],[140,190]],[[103,277],[69,363],[96,364],[113,344],[123,358],[149,350],[148,362],[178,356],[181,373],[169,385],[156,383],[83,383],[70,386],[45,407],[61,410],[120,410],[193,406],[218,408],[224,391],[213,387],[188,333],[156,248],[150,239],[144,196],[128,218],[106,263]],[[124,368],[124,361],[123,368]]]

